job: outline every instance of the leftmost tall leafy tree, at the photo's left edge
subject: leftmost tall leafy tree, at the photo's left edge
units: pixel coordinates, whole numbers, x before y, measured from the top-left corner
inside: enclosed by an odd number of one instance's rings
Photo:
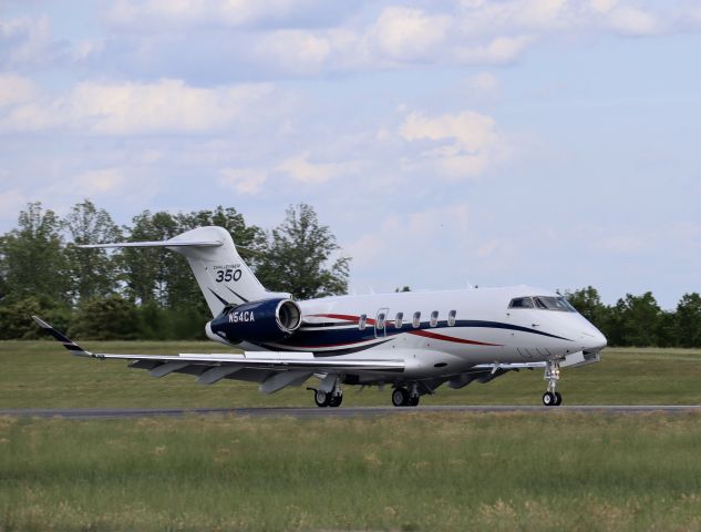
[[[55,301],[70,299],[70,277],[61,238],[61,222],[41,203],[20,211],[19,227],[0,241],[0,277],[6,297],[22,299],[41,294]]]

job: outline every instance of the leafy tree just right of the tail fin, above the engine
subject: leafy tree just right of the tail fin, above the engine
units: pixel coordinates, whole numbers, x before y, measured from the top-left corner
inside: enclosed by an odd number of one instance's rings
[[[300,203],[289,206],[285,221],[272,229],[256,274],[268,289],[289,291],[300,299],[344,294],[350,258],[328,265],[338,249],[329,227],[319,224],[310,205]]]

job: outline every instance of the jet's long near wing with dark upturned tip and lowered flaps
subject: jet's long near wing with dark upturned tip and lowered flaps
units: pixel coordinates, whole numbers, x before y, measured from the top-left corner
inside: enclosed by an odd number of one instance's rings
[[[224,378],[240,378],[261,382],[261,391],[270,393],[286,386],[301,385],[317,372],[362,371],[403,372],[400,359],[353,360],[349,358],[315,357],[312,352],[244,351],[243,354],[179,354],[179,355],[115,355],[83,349],[44,320],[32,316],[48,334],[72,355],[97,359],[131,360],[130,367],[147,369],[153,377],[173,372],[197,376],[197,381],[213,385]],[[277,375],[285,372],[286,375]],[[267,385],[267,386],[266,386]]]

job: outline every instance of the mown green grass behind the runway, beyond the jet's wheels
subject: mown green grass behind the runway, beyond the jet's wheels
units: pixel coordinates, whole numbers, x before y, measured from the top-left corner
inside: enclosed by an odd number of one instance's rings
[[[87,342],[105,352],[220,351],[213,342]],[[0,342],[0,408],[310,406],[303,388],[261,396],[257,385],[202,386],[184,375],[154,379],[126,362],[72,357],[55,341]],[[310,383],[315,379],[310,379]],[[701,403],[701,350],[606,349],[602,361],[563,370],[565,405]],[[390,389],[347,387],[344,406],[389,405]],[[422,405],[539,405],[543,371],[511,372],[486,385],[447,387]],[[341,407],[342,408],[342,407]]]

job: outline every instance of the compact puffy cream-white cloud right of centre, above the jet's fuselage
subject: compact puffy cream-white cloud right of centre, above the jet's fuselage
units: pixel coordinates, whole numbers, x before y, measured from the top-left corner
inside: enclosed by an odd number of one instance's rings
[[[409,142],[431,141],[420,156],[455,180],[480,176],[505,151],[495,120],[474,111],[437,116],[410,113],[399,133]]]

